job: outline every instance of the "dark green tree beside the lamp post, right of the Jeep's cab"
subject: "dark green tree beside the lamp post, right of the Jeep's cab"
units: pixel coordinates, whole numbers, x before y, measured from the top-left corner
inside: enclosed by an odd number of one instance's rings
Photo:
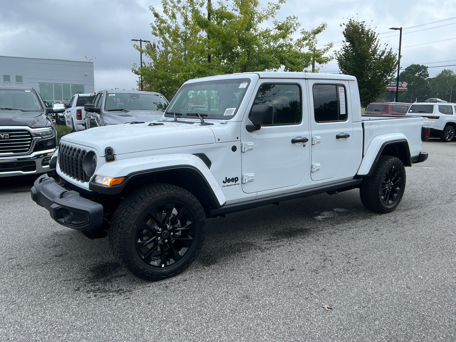
[[[367,107],[386,91],[397,58],[392,49],[380,46],[378,34],[365,21],[350,18],[341,27],[345,41],[336,52],[337,63],[342,73],[358,79],[361,105]]]

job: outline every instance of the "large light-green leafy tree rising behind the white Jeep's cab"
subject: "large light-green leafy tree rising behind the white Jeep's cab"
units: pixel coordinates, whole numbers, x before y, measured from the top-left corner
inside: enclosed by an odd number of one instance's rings
[[[304,71],[312,57],[319,64],[331,60],[325,54],[332,44],[316,49],[316,35],[326,24],[301,30],[301,36],[294,39],[300,26],[297,17],[275,20],[284,2],[270,2],[261,8],[258,0],[219,1],[216,5],[199,0],[162,0],[163,15],[150,6],[154,15],[150,25],[156,39],[141,50],[150,62],[143,67],[134,65],[132,70],[143,76],[145,90],[161,92],[171,99],[191,78],[279,69]],[[264,25],[269,20],[271,27]]]

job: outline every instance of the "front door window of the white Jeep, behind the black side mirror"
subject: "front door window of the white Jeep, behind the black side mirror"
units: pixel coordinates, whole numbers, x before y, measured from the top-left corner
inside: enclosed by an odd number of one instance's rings
[[[255,104],[272,104],[273,125],[301,122],[301,89],[297,84],[262,84],[255,97]]]

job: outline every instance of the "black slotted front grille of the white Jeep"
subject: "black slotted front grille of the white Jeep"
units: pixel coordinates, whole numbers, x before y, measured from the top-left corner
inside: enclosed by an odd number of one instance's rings
[[[86,150],[70,145],[60,145],[58,149],[60,170],[67,176],[78,181],[90,181],[90,176],[84,172],[83,160]]]

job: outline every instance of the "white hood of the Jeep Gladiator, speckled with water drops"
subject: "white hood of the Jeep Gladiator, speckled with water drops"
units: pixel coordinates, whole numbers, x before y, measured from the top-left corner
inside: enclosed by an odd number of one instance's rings
[[[182,124],[163,122],[162,125],[116,124],[94,127],[62,137],[62,142],[75,143],[98,150],[104,155],[106,147],[112,147],[114,154],[160,150],[189,145],[215,143],[215,136],[208,127],[200,123]]]

